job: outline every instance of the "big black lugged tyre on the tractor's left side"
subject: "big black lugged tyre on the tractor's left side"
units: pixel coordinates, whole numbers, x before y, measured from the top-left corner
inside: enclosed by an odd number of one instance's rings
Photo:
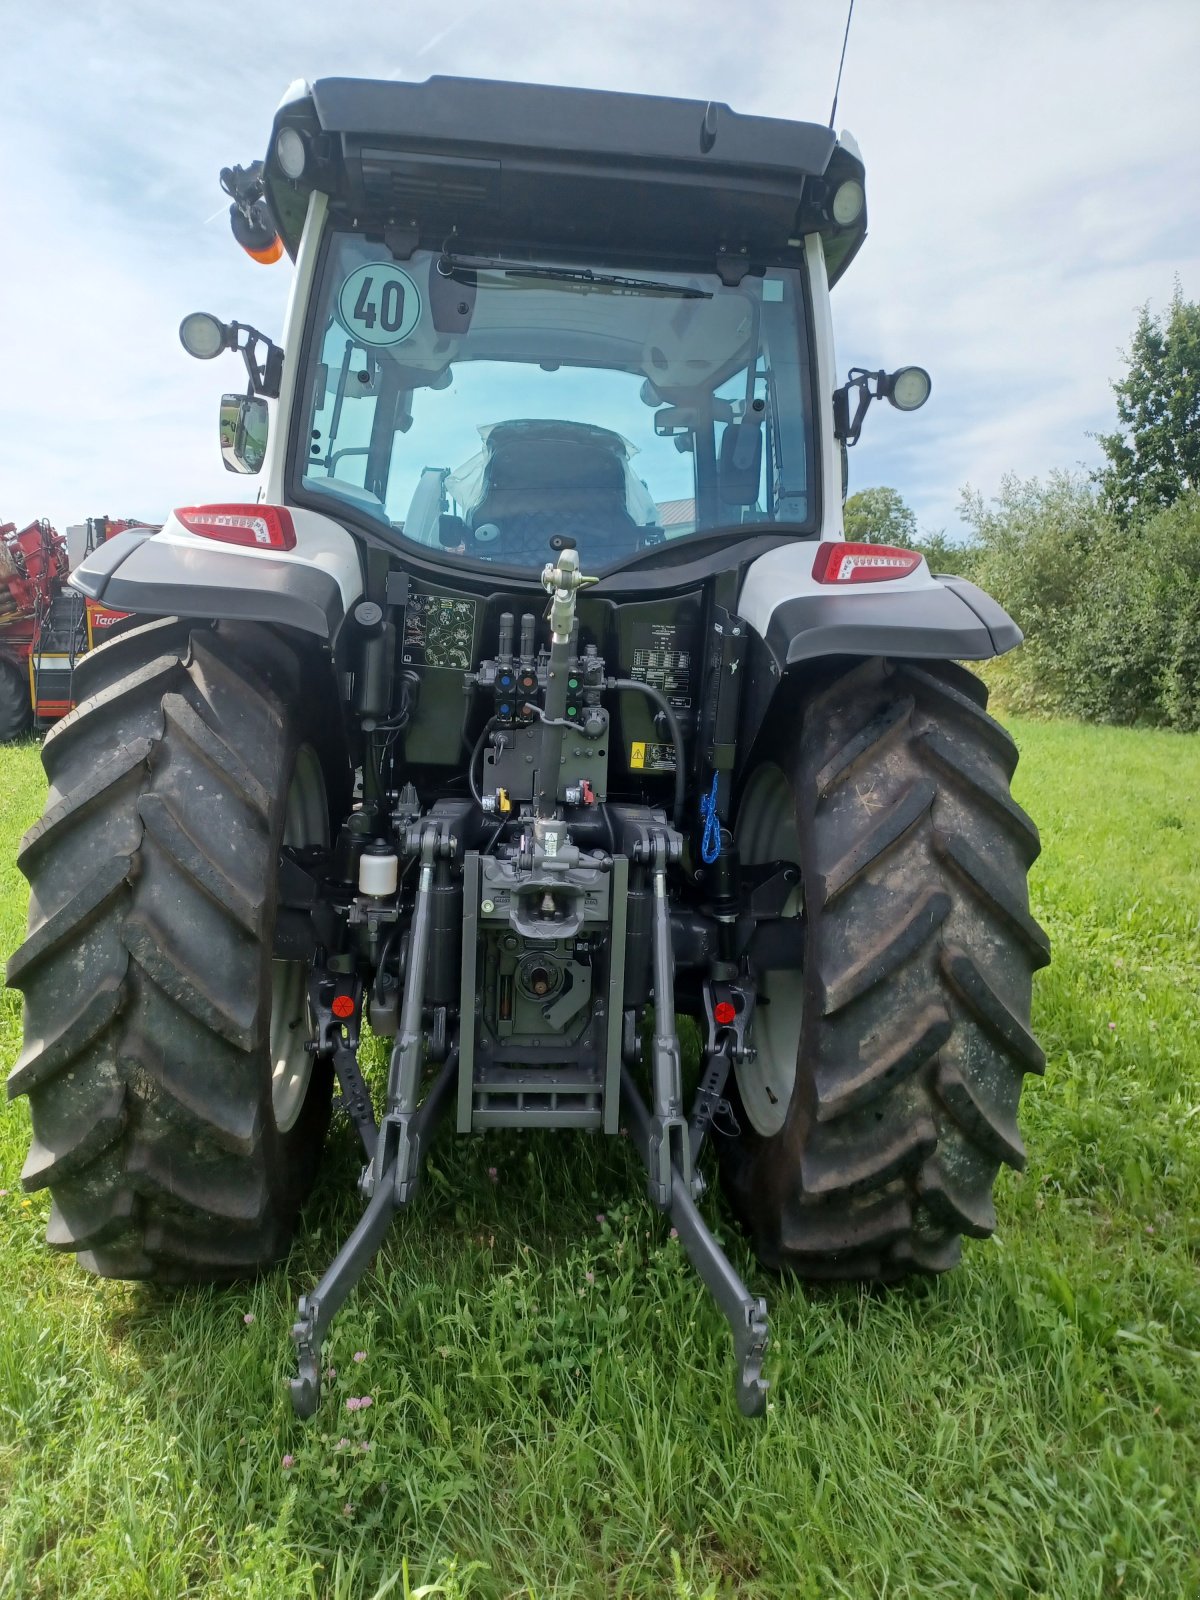
[[[29,1096],[48,1243],[102,1277],[251,1274],[317,1170],[328,1069],[288,1077],[286,1117],[272,1098],[274,1059],[301,1059],[272,1048],[278,848],[299,774],[320,782],[299,678],[266,629],[150,622],[80,661],[45,741],[8,1093]]]

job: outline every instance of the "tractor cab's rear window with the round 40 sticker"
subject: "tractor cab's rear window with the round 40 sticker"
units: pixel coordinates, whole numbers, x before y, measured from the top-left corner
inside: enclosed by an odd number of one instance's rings
[[[566,536],[603,570],[710,528],[811,525],[794,269],[728,286],[600,264],[395,261],[333,234],[314,317],[301,488],[398,539],[541,571]]]

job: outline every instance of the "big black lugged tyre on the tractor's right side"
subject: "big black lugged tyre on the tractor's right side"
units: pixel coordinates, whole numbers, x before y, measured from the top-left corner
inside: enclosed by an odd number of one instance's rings
[[[1045,1067],[1029,1010],[1050,944],[1029,914],[1040,846],[1008,789],[1016,746],[986,704],[962,667],[867,661],[786,685],[770,714],[739,842],[749,859],[786,854],[784,824],[760,821],[782,797],[805,971],[765,974],[755,1034],[773,1048],[741,1069],[741,1136],[722,1142],[768,1266],[946,1270],[963,1234],[994,1230],[1000,1163],[1024,1165],[1016,1106]]]

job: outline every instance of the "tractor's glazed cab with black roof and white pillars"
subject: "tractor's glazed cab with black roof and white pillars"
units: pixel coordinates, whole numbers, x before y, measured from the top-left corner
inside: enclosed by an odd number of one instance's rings
[[[600,571],[840,531],[821,368],[866,229],[853,144],[717,104],[323,80],[251,171],[235,221],[258,208],[301,269],[288,502],[528,576],[542,530]]]

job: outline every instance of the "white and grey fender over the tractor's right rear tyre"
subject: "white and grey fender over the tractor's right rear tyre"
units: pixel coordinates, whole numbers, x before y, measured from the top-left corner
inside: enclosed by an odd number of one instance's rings
[[[920,565],[869,584],[819,582],[821,544],[786,544],[746,570],[738,613],[781,670],[818,656],[987,661],[1021,643],[1008,613],[965,578]]]

